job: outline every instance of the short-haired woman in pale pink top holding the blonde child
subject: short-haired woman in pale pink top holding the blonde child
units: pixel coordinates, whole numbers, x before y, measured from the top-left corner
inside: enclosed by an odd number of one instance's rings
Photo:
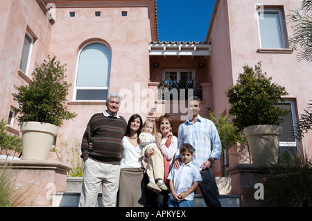
[[[164,184],[168,185],[167,177],[170,170],[170,165],[177,152],[177,137],[172,134],[173,121],[170,115],[165,114],[159,118],[159,133],[155,135],[156,144],[164,155]],[[153,150],[145,152],[146,157],[153,155]],[[154,193],[149,191],[148,202],[150,206],[166,207],[168,203],[168,191]]]

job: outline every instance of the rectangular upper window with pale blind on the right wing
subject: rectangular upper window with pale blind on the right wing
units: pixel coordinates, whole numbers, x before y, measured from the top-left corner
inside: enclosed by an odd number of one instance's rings
[[[281,9],[259,10],[258,21],[261,48],[286,48]]]

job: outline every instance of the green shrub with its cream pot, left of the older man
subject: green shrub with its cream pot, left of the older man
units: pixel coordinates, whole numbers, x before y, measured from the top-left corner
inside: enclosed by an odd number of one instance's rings
[[[44,60],[31,74],[29,85],[15,86],[12,94],[19,107],[17,120],[21,125],[22,159],[46,160],[62,121],[76,117],[66,106],[68,89],[65,65],[56,57]]]

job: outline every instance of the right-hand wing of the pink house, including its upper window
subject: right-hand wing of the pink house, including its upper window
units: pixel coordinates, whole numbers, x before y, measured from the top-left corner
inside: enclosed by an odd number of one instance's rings
[[[207,66],[214,112],[226,112],[229,105],[223,91],[236,83],[245,64],[261,61],[263,71],[289,94],[282,106],[291,114],[282,125],[280,147],[291,146],[311,156],[311,132],[301,142],[289,136],[311,100],[311,63],[298,62],[297,51],[288,48],[288,36],[293,33],[289,16],[300,6],[301,1],[216,1],[206,39],[211,42]]]

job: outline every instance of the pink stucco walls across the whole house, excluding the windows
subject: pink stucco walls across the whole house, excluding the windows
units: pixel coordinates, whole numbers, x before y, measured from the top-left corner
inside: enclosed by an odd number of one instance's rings
[[[45,1],[55,3],[55,24],[51,24],[37,2],[4,0],[1,2],[0,21],[0,67],[1,91],[5,96],[0,101],[0,118],[8,118],[13,102],[11,94],[13,85],[25,85],[29,82],[30,73],[35,62],[40,64],[47,55],[56,55],[62,64],[67,64],[67,81],[74,84],[78,53],[80,48],[92,41],[105,43],[112,51],[110,91],[123,95],[120,114],[127,120],[139,113],[144,118],[150,117],[149,110],[142,103],[146,99],[146,89],[150,80],[162,78],[162,69],[184,69],[192,67],[196,71],[198,84],[206,86],[212,93],[206,94],[204,105],[212,111],[227,112],[229,104],[225,90],[234,85],[243,66],[254,66],[261,61],[263,70],[272,76],[279,85],[285,86],[289,96],[297,105],[297,116],[311,98],[311,64],[298,63],[297,52],[257,53],[259,48],[259,31],[255,0],[217,0],[206,42],[211,42],[211,56],[203,57],[153,57],[150,58],[148,46],[157,39],[154,1],[91,1],[87,5],[74,7],[71,1]],[[263,0],[270,5],[272,1]],[[283,5],[286,15],[290,10],[299,8],[301,1],[277,0],[275,5]],[[81,3],[81,2],[80,2]],[[76,12],[69,17],[69,12]],[[101,17],[94,12],[101,11]],[[128,16],[122,17],[121,12]],[[29,16],[31,15],[31,16]],[[291,24],[286,24],[288,35],[291,35]],[[21,58],[26,28],[37,38],[31,54],[31,66],[28,77],[17,73]],[[150,65],[159,62],[161,67],[154,69]],[[198,62],[205,64],[198,69]],[[302,80],[304,79],[304,80]],[[73,100],[73,87],[69,90],[69,109],[78,116],[73,121],[64,121],[60,127],[63,140],[81,139],[87,121],[96,112],[105,109],[103,102],[77,102]],[[137,105],[140,104],[140,105]],[[205,106],[205,108],[206,108]],[[202,108],[205,110],[205,108]],[[201,113],[207,115],[207,113]],[[153,117],[153,116],[152,116]],[[17,122],[14,125],[19,130]],[[304,139],[303,146],[312,142],[312,136]]]

